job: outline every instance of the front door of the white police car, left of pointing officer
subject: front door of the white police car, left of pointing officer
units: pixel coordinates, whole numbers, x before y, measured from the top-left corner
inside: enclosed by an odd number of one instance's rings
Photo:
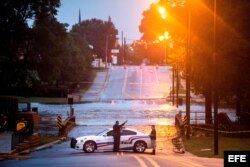
[[[98,143],[99,150],[113,150],[114,138],[113,138],[113,130],[108,131],[103,134],[102,141]]]

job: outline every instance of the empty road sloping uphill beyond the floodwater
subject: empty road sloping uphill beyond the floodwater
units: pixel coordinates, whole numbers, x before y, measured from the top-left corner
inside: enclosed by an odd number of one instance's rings
[[[162,66],[114,66],[98,73],[82,101],[164,99],[171,87],[171,70]]]

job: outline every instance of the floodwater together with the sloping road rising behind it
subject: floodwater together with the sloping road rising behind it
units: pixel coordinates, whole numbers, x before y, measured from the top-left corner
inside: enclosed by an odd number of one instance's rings
[[[113,67],[100,72],[92,87],[81,96],[82,102],[72,106],[76,125],[111,127],[116,120],[128,120],[128,126],[174,125],[175,114],[181,110],[185,116],[186,107],[176,108],[165,99],[171,87],[170,73],[168,67],[154,66]],[[70,111],[68,104],[32,103],[31,106],[37,107],[42,117],[39,127],[42,134],[57,133],[57,116],[65,119]],[[192,104],[191,123],[204,123],[204,111],[202,103]],[[234,110],[219,112],[230,113],[230,118],[236,119]]]

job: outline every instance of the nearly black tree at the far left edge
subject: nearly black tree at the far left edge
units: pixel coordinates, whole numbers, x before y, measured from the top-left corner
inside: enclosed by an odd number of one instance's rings
[[[0,2],[0,78],[1,88],[7,90],[17,86],[29,86],[38,80],[37,71],[30,68],[32,30],[28,20],[54,17],[60,0]],[[31,64],[30,64],[31,63]]]

